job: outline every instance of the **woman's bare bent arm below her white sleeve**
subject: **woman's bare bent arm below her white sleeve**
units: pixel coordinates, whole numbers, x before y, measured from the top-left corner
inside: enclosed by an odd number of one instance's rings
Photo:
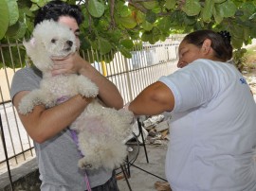
[[[155,115],[174,110],[174,94],[164,83],[157,81],[145,88],[130,103],[129,111],[136,115]]]

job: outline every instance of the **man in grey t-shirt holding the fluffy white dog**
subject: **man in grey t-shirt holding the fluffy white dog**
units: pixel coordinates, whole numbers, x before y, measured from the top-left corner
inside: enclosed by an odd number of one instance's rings
[[[69,26],[80,46],[79,25],[82,24],[82,12],[79,7],[68,5],[62,1],[51,1],[39,9],[34,26],[44,20],[53,19]],[[103,77],[88,61],[84,61],[78,52],[66,58],[54,60],[52,75],[77,73],[90,78],[99,87],[99,98],[106,107],[120,109],[122,97],[117,87]],[[21,99],[30,91],[39,88],[41,72],[33,66],[17,71],[12,80],[10,96],[17,109]],[[20,119],[33,139],[38,159],[41,190],[49,191],[119,191],[112,170],[81,170],[77,163],[80,153],[67,127],[75,121],[91,98],[80,95],[66,102],[46,109],[44,105],[36,106],[31,113]],[[89,182],[89,185],[88,185]]]

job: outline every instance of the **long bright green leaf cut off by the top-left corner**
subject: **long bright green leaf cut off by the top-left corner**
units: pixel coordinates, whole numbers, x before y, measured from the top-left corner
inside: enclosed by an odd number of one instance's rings
[[[6,31],[9,26],[9,9],[7,0],[0,1],[0,40],[6,34]]]

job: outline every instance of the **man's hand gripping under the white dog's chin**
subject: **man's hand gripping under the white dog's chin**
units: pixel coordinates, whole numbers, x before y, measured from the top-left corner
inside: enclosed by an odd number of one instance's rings
[[[51,74],[57,76],[61,74],[77,74],[80,73],[82,65],[86,62],[82,59],[78,52],[68,55],[64,58],[51,58],[54,62]]]

